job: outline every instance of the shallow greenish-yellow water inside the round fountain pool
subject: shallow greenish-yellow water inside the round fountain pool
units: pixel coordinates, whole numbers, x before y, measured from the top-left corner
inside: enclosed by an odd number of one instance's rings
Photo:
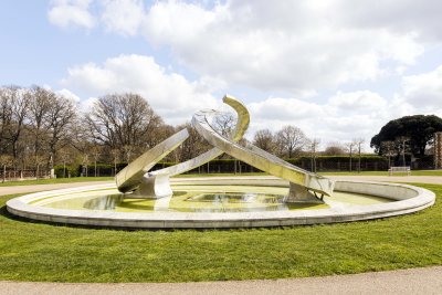
[[[286,204],[287,188],[249,186],[173,186],[173,196],[137,199],[116,189],[59,194],[32,204],[55,209],[110,210],[115,212],[263,212],[327,209],[328,204]],[[345,206],[389,202],[373,196],[335,192],[326,200]]]

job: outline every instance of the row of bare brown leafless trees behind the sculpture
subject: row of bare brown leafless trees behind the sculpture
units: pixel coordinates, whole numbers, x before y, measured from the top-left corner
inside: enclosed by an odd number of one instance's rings
[[[220,113],[211,123],[222,135],[234,128],[235,117]],[[54,165],[129,162],[173,133],[188,128],[189,139],[166,161],[193,158],[211,148],[190,123],[170,126],[140,95],[107,94],[87,109],[78,102],[40,86],[0,88],[0,165],[14,170],[49,169]],[[362,141],[347,147],[332,143],[329,155],[355,151]],[[241,145],[250,144],[242,139]],[[302,129],[284,126],[276,133],[257,130],[252,144],[282,158],[316,155],[319,140]],[[327,151],[326,149],[326,151]],[[223,156],[229,158],[229,156]],[[314,158],[314,157],[313,157]]]

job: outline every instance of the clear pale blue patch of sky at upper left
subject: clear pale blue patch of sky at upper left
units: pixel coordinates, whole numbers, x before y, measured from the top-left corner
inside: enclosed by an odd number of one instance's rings
[[[151,54],[141,36],[122,38],[101,30],[61,29],[48,19],[50,1],[4,1],[0,10],[2,83],[57,87],[69,66],[104,62],[122,53]]]

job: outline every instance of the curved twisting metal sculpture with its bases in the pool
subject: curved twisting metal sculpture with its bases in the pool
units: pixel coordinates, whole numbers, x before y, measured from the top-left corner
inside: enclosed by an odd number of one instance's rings
[[[165,169],[149,171],[155,164],[177,148],[189,136],[187,129],[172,135],[143,154],[116,176],[117,188],[122,192],[130,192],[130,198],[162,198],[171,197],[172,190],[169,177],[197,168],[221,154],[225,152],[257,169],[290,181],[288,203],[322,203],[324,196],[332,196],[334,181],[291,165],[256,146],[240,146],[236,141],[242,138],[249,127],[250,115],[246,107],[238,99],[225,95],[223,102],[238,114],[235,129],[228,137],[218,134],[209,124],[217,110],[200,110],[192,117],[197,131],[208,140],[213,148],[209,151]]]

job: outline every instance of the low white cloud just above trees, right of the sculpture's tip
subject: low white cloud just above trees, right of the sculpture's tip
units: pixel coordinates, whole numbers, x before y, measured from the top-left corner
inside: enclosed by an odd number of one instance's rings
[[[248,105],[252,117],[250,135],[262,128],[277,131],[284,125],[294,125],[309,138],[320,138],[323,143],[364,138],[365,149],[369,151],[371,137],[387,122],[415,110],[409,105],[400,108],[398,103],[394,99],[389,103],[370,91],[338,92],[322,104],[296,98],[267,98]]]

